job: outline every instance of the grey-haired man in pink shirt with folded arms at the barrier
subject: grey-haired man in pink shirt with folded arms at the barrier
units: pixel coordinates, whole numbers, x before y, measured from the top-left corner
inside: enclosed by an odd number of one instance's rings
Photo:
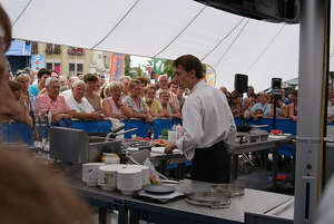
[[[56,77],[50,77],[46,81],[47,92],[41,94],[36,99],[35,113],[45,118],[51,111],[51,121],[57,124],[60,119],[70,119],[72,114],[63,96],[59,96],[60,81]]]

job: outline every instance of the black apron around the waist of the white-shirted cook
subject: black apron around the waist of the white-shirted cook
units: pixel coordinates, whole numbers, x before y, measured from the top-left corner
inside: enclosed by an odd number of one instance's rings
[[[209,183],[229,183],[230,157],[222,140],[208,148],[196,148],[191,163],[191,179]]]

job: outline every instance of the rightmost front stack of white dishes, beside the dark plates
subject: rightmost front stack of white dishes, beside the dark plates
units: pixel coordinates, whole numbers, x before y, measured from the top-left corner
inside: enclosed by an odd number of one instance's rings
[[[117,172],[117,188],[125,195],[141,189],[141,168],[126,167]]]

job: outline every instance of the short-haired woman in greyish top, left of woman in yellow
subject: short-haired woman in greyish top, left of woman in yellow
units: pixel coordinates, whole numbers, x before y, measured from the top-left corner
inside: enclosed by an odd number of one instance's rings
[[[140,97],[143,87],[139,80],[131,80],[129,84],[129,96],[122,98],[124,103],[130,108],[131,117],[134,118],[143,118],[146,123],[153,121],[153,116],[145,108],[144,101]]]

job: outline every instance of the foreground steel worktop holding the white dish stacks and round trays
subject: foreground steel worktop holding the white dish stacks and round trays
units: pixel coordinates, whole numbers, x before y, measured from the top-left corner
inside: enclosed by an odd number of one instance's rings
[[[213,210],[204,206],[188,204],[185,198],[175,198],[166,204],[153,199],[134,198],[122,195],[119,191],[106,192],[100,187],[89,187],[81,179],[66,177],[66,185],[72,188],[79,196],[95,202],[96,205],[106,206],[108,204],[119,211],[118,223],[127,223],[129,212],[129,223],[137,223],[139,220],[156,223],[244,223],[245,212],[266,215],[274,208],[293,201],[293,196],[282,195],[255,189],[245,189],[245,195],[232,198],[228,208]],[[176,189],[191,192],[208,192],[210,183],[184,181],[173,185]],[[99,204],[99,202],[101,204]],[[116,207],[115,207],[116,206]],[[100,215],[104,215],[101,213]],[[288,215],[271,215],[272,218],[292,220]],[[101,218],[104,220],[104,218]]]

